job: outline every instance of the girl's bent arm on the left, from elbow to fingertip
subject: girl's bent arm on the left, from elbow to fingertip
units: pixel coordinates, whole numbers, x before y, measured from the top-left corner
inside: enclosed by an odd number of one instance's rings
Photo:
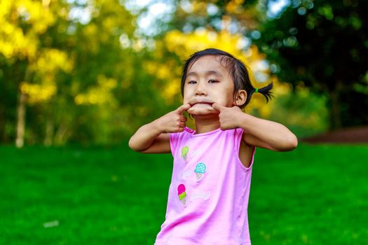
[[[186,118],[183,112],[190,107],[184,104],[154,122],[143,125],[130,138],[129,147],[141,153],[170,153],[169,133],[184,131]]]

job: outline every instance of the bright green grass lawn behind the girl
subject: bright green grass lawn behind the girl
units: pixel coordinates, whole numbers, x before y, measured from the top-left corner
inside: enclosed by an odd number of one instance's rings
[[[0,146],[0,244],[154,244],[171,155]],[[252,244],[367,244],[368,145],[257,148]]]

